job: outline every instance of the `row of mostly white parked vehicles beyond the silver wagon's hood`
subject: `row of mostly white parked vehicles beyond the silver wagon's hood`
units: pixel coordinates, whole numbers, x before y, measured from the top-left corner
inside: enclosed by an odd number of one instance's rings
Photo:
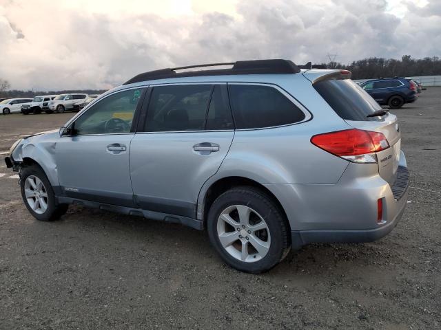
[[[9,115],[10,113],[63,113],[64,111],[80,111],[87,104],[92,102],[98,95],[88,94],[61,94],[61,95],[42,95],[34,98],[9,98],[0,99],[0,113]]]

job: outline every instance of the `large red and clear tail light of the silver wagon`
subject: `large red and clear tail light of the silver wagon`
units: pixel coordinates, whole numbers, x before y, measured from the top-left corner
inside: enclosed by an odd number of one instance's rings
[[[356,163],[376,163],[376,152],[389,148],[384,134],[360,129],[314,135],[311,143],[328,153]]]

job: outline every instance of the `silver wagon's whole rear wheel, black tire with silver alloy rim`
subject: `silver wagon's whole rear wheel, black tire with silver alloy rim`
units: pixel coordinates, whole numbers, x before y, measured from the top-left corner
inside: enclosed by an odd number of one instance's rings
[[[239,214],[249,214],[248,221]],[[285,215],[269,195],[253,187],[236,187],[220,195],[209,208],[207,231],[223,261],[242,272],[266,272],[291,250]]]

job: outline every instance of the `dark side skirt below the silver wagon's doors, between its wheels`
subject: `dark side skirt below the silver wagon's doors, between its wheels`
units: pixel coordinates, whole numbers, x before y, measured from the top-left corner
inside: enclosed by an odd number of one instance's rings
[[[98,201],[86,201],[84,199],[76,199],[72,197],[57,196],[56,198],[59,203],[77,204],[85,206],[87,208],[99,208],[100,210],[106,210],[110,212],[137,215],[140,217],[145,217],[146,219],[165,221],[170,223],[181,223],[182,225],[187,225],[188,227],[194,228],[196,230],[204,229],[203,221],[189,217],[183,217],[181,215],[143,210],[141,208],[127,208],[125,206],[116,206],[112,204],[100,203]]]

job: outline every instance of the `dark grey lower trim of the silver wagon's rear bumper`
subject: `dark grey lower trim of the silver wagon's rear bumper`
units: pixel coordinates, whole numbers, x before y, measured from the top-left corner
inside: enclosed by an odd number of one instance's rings
[[[407,205],[409,190],[409,173],[407,168],[399,166],[398,177],[391,187],[392,198],[385,197],[388,212],[387,221],[378,228],[357,230],[294,230],[291,231],[291,242],[294,249],[309,243],[364,243],[381,239],[395,228]],[[356,219],[354,219],[356,221]]]

